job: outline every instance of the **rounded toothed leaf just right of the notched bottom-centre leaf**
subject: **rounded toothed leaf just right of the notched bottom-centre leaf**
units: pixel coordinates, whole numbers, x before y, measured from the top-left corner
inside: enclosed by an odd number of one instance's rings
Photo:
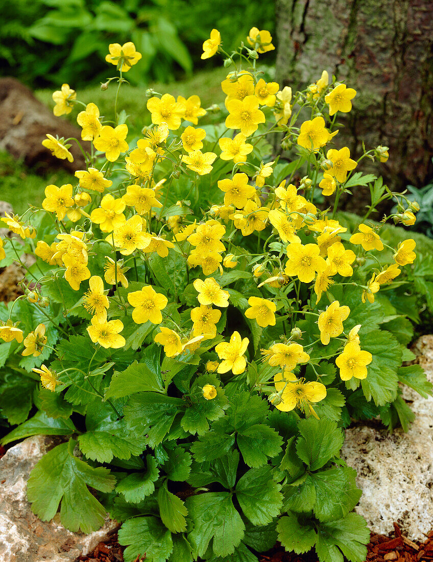
[[[236,484],[239,505],[254,525],[266,525],[280,514],[281,486],[272,478],[272,466],[252,468]]]

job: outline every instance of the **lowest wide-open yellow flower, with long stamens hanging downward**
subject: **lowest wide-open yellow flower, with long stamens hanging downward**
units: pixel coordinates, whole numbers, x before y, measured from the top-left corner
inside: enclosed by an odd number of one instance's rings
[[[290,412],[299,408],[304,414],[311,413],[317,418],[311,402],[320,402],[326,397],[325,385],[317,382],[305,382],[305,379],[297,379],[293,373],[285,372],[284,378],[282,373],[277,373],[274,377],[276,391],[282,391],[281,402],[276,404],[275,407],[282,412]]]

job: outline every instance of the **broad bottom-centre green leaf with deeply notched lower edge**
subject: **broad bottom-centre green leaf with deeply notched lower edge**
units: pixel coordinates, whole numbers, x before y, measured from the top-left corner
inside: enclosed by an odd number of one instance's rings
[[[194,556],[203,556],[209,542],[217,556],[234,552],[244,536],[245,525],[231,501],[229,492],[209,492],[186,500],[194,524],[188,540]]]

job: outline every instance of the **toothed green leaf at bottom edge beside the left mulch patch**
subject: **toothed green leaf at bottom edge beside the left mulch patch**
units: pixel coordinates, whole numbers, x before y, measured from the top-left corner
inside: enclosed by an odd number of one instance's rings
[[[166,562],[173,550],[171,533],[156,517],[134,517],[118,531],[118,542],[126,546],[124,558],[132,562],[138,557],[152,562]]]

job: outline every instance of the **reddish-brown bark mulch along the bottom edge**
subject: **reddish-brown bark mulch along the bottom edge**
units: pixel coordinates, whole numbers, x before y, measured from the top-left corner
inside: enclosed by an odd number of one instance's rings
[[[399,526],[394,523],[394,533],[390,536],[371,533],[370,544],[367,546],[366,562],[426,562],[433,561],[433,531],[423,543],[416,543],[404,537]],[[117,533],[113,533],[106,542],[100,542],[88,556],[79,556],[75,562],[124,562],[124,547],[117,542]],[[142,562],[145,558],[136,559]],[[306,554],[290,554],[282,547],[259,555],[259,562],[318,562],[314,550]]]

